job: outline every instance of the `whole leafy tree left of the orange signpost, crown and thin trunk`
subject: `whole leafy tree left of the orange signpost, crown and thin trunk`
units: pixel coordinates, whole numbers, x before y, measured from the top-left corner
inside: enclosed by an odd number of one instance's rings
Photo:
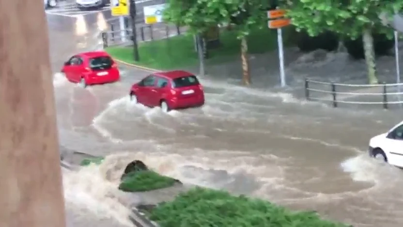
[[[253,28],[267,26],[268,4],[267,0],[169,0],[163,18],[187,26],[194,34],[212,26],[231,25],[241,40],[242,81],[249,85],[247,37]]]

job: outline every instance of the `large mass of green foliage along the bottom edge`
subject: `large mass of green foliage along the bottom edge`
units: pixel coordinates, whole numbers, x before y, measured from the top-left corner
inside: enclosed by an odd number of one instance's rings
[[[160,227],[347,227],[316,212],[294,212],[261,199],[195,188],[151,211]]]

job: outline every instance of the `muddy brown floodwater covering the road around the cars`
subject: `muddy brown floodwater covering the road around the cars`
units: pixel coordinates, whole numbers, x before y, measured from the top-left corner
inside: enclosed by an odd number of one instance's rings
[[[87,38],[63,31],[71,34],[64,40],[69,47],[86,43],[69,50],[99,48],[95,25],[87,28],[93,29]],[[55,41],[52,47],[52,56],[71,54],[56,54]],[[401,226],[403,172],[366,153],[373,135],[401,121],[400,111],[332,109],[288,93],[203,79],[202,108],[164,114],[130,103],[130,84],[147,73],[122,70],[121,82],[86,89],[55,75],[62,146],[112,157],[128,152],[185,183],[319,211],[356,227]],[[113,171],[113,163],[103,168]],[[88,212],[89,219],[109,215],[124,223],[126,210],[113,199],[113,183],[100,169],[88,171],[64,175],[67,203],[85,207],[84,219]]]

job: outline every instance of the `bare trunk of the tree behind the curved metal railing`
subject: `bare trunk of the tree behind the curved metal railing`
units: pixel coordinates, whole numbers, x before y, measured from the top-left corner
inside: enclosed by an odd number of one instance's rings
[[[371,27],[365,28],[362,32],[362,42],[364,46],[365,62],[368,69],[368,82],[370,84],[378,83],[378,78],[376,78],[375,51],[373,49]]]

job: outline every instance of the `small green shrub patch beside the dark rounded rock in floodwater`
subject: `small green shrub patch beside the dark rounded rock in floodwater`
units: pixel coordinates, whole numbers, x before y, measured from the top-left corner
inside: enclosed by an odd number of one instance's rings
[[[161,176],[154,171],[136,171],[128,173],[119,184],[124,192],[146,192],[171,187],[177,180]]]

